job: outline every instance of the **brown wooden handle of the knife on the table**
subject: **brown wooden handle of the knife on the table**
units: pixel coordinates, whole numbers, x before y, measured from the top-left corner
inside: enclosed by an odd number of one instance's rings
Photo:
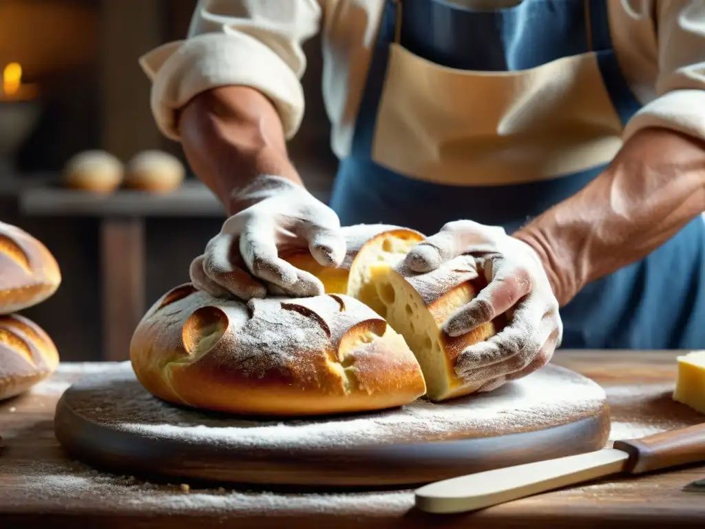
[[[630,455],[625,471],[632,474],[699,463],[705,461],[705,424],[615,441],[613,446]]]

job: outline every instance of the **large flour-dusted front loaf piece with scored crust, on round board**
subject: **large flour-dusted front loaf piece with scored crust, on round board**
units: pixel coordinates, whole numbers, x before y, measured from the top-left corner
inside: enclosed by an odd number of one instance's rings
[[[425,392],[403,338],[345,295],[245,304],[178,286],[137,325],[130,359],[161,399],[230,413],[379,410]]]

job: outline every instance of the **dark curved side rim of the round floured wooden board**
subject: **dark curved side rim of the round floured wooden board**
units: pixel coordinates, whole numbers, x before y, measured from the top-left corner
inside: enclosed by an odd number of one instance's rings
[[[594,415],[575,422],[498,437],[335,451],[307,448],[223,453],[175,439],[140,437],[92,422],[73,411],[64,396],[57,403],[54,419],[56,438],[68,453],[118,474],[231,485],[314,487],[422,485],[502,466],[582,454],[603,448],[610,427],[609,407],[604,403]]]

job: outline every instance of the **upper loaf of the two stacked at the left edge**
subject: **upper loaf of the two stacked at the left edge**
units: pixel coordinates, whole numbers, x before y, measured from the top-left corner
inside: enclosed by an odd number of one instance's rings
[[[37,305],[61,284],[47,247],[26,231],[0,222],[0,315]]]

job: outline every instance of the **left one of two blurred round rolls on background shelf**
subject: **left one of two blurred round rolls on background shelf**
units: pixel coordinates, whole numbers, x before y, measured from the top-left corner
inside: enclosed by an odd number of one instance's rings
[[[109,152],[90,150],[72,157],[64,166],[62,178],[68,188],[106,195],[121,185],[123,176],[119,159]]]

